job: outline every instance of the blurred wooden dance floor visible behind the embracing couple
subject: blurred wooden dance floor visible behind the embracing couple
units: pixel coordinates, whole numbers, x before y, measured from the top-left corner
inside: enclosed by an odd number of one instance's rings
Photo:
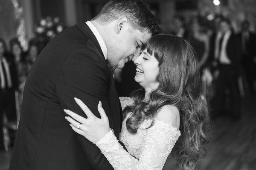
[[[256,170],[256,98],[243,102],[242,119],[223,116],[213,122],[207,156],[199,170]],[[0,152],[0,170],[8,170],[11,151]],[[163,170],[177,170],[170,156]]]

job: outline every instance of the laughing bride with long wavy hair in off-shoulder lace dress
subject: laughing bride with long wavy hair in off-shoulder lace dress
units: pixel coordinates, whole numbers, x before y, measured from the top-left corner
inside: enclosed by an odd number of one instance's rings
[[[77,98],[87,119],[69,110],[64,110],[69,115],[65,118],[99,147],[115,170],[162,170],[171,151],[182,170],[196,169],[205,155],[209,116],[194,50],[180,37],[159,34],[148,40],[134,63],[134,79],[143,89],[121,98],[120,140],[128,152],[110,129],[101,102],[101,119]]]

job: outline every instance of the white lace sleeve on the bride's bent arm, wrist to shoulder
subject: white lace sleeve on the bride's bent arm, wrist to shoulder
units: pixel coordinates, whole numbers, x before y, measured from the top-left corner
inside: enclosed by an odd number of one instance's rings
[[[139,160],[122,148],[113,131],[96,145],[115,170],[162,170],[179,136],[180,131],[171,124],[156,120],[148,129]]]

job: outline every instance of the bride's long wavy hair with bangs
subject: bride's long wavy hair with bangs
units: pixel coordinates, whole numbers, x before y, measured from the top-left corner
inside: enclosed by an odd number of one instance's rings
[[[201,157],[205,156],[204,144],[208,142],[209,114],[206,102],[201,98],[201,81],[195,51],[180,37],[159,34],[145,45],[147,52],[159,62],[157,82],[159,86],[151,91],[149,99],[143,101],[145,91],[134,91],[131,97],[134,105],[123,113],[130,133],[145,119],[152,119],[164,105],[174,105],[180,111],[180,132],[172,154],[182,170],[194,170]],[[154,119],[151,126],[154,124]]]

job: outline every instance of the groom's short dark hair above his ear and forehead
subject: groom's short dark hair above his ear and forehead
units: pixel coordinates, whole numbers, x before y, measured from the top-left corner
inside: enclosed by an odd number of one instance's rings
[[[106,25],[119,17],[127,17],[135,30],[158,33],[157,20],[141,0],[110,0],[92,20]]]

